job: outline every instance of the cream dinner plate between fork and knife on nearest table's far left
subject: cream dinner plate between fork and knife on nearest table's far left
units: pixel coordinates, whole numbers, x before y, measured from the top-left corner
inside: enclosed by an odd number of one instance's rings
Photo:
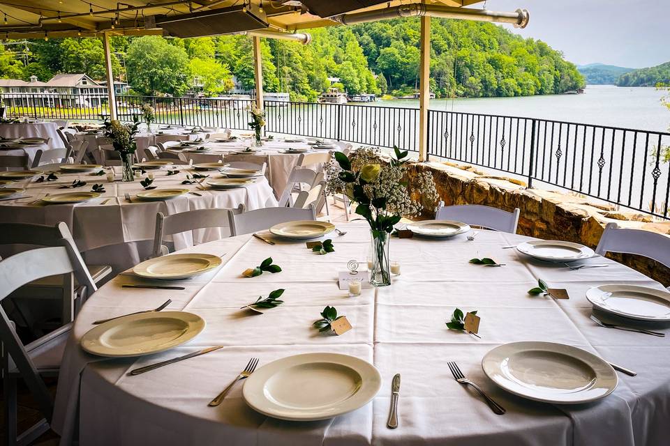
[[[190,341],[204,325],[204,319],[187,312],[133,314],[91,328],[81,344],[84,351],[98,356],[151,355]]]

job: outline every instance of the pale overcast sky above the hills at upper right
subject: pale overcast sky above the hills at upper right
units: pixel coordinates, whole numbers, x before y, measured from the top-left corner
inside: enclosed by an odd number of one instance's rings
[[[483,3],[472,5],[481,7]],[[578,65],[643,68],[670,61],[670,0],[487,0],[486,9],[530,12],[524,37]],[[507,26],[507,25],[505,25]]]

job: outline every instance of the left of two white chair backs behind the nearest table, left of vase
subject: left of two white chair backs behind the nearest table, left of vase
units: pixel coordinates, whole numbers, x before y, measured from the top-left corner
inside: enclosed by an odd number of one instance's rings
[[[164,236],[172,236],[186,231],[193,231],[194,229],[205,228],[228,228],[230,222],[228,221],[229,209],[197,209],[187,210],[172,215],[163,215],[159,212],[156,214],[156,233],[154,234],[154,252],[153,257],[164,256],[170,250],[163,245]],[[244,212],[244,204],[240,204],[237,208],[230,209],[234,214],[241,214]]]

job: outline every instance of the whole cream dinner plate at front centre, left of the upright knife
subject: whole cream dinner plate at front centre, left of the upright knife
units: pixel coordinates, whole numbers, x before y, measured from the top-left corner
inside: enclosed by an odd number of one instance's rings
[[[379,392],[379,371],[364,360],[338,353],[283,357],[246,378],[244,401],[280,420],[328,420],[369,403]]]

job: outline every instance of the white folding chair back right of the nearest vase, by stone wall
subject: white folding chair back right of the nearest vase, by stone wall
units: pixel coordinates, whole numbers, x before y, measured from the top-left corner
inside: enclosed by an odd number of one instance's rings
[[[519,223],[519,208],[514,209],[514,212],[507,212],[479,204],[445,206],[445,203],[440,201],[435,220],[456,220],[471,226],[514,234]]]

